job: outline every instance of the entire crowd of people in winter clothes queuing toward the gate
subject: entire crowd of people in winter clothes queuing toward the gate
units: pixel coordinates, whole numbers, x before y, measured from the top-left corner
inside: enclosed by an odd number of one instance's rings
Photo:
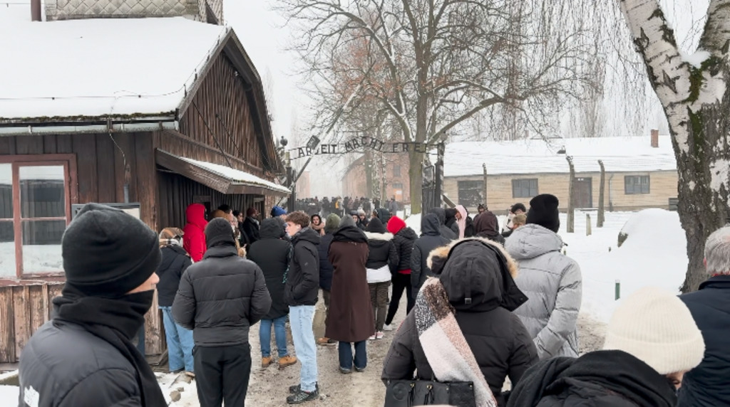
[[[603,348],[580,355],[582,277],[562,252],[555,196],[512,205],[502,231],[485,205],[474,218],[434,208],[420,236],[380,202],[343,199],[340,211],[335,198],[331,211],[325,200],[316,213],[274,207],[268,218],[192,204],[183,229],[159,234],[85,205],[62,240],[55,317],[23,349],[20,406],[166,406],[132,344],[155,288],[169,369],[195,378],[203,407],[245,404],[256,323],[261,368],[300,365],[289,404],[319,398],[318,346],[337,346],[339,372],[352,374],[368,367],[368,341],[395,331],[385,406],[418,405],[393,400],[410,397],[391,391],[403,380],[469,383],[469,406],[730,405],[730,226],[707,240],[699,291],[642,288],[615,310]],[[320,290],[326,327],[315,338]]]

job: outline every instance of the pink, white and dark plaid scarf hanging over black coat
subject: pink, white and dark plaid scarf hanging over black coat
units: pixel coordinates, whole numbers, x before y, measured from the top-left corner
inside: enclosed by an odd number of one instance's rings
[[[489,384],[454,317],[444,286],[437,278],[423,284],[415,300],[418,341],[439,382],[473,382],[477,407],[496,407]]]

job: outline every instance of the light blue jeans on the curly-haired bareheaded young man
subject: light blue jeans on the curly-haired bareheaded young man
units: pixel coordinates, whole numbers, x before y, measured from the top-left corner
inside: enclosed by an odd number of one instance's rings
[[[289,325],[294,340],[296,357],[301,363],[299,381],[301,390],[313,392],[317,386],[317,345],[312,322],[315,319],[313,305],[289,307]]]

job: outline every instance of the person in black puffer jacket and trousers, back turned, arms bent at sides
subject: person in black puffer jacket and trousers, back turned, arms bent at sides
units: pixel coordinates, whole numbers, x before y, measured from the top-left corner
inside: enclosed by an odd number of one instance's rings
[[[244,406],[251,374],[248,330],[272,299],[261,269],[239,257],[231,224],[205,227],[203,259],[183,273],[172,316],[193,330],[196,387],[201,407]]]

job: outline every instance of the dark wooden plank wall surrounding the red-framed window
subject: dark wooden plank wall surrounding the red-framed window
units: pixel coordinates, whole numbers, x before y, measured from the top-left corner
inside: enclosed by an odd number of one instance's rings
[[[129,201],[140,203],[142,221],[157,231],[153,144],[153,133],[16,136],[0,138],[0,154],[76,154],[79,199],[72,202],[74,204],[124,202],[126,164],[130,170]],[[37,293],[42,291],[39,287],[18,285],[10,291],[7,288],[0,291],[0,362],[17,361],[20,349],[42,325],[37,309],[44,304],[45,297]],[[60,295],[61,288],[53,285],[48,291],[53,299]],[[46,307],[50,309],[50,305]],[[149,312],[146,318],[145,350],[148,355],[158,355],[165,349],[161,333],[163,324],[156,302],[153,310],[155,312]],[[12,319],[8,319],[11,316]],[[9,341],[13,344],[12,349],[4,346]]]

